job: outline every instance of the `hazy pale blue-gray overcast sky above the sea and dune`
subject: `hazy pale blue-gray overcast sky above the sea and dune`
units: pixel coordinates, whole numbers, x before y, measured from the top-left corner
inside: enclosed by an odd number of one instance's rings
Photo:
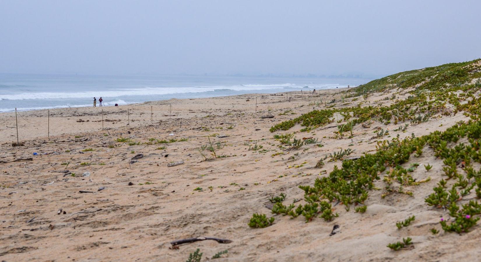
[[[0,0],[0,72],[387,75],[481,57],[479,0]]]

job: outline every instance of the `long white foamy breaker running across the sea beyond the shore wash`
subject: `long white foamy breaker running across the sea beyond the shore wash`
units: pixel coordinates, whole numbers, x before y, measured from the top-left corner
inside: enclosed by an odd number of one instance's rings
[[[326,84],[312,88],[326,89],[339,85]],[[266,89],[282,88],[303,88],[294,84],[273,84],[273,85],[236,85],[236,86],[213,86],[213,87],[144,87],[144,88],[119,88],[106,91],[85,91],[85,92],[25,92],[13,94],[0,94],[0,100],[28,100],[28,99],[71,99],[71,98],[93,98],[93,97],[120,97],[120,96],[152,96],[180,93],[200,93],[216,90],[234,91],[258,91]]]

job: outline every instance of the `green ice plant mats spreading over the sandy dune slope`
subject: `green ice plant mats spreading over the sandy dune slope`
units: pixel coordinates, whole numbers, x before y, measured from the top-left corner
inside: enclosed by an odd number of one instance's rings
[[[383,125],[401,125],[395,129],[397,132],[406,132],[409,125],[419,125],[430,121],[432,118],[455,116],[462,114],[469,118],[468,121],[459,121],[444,131],[433,131],[429,135],[416,137],[415,134],[401,138],[399,135],[390,140],[380,140],[389,135],[388,128],[379,127],[375,137],[377,140],[376,152],[365,153],[356,159],[343,159],[351,152],[341,150],[331,153],[330,161],[342,160],[328,174],[317,177],[312,185],[300,186],[304,190],[304,203],[297,207],[284,206],[280,202],[274,211],[287,212],[292,218],[303,215],[306,222],[316,217],[327,221],[334,219],[335,212],[332,202],[344,206],[349,211],[351,205],[356,212],[361,212],[366,207],[364,202],[373,189],[374,182],[383,180],[385,183],[382,197],[389,194],[406,194],[413,196],[416,186],[431,180],[415,179],[419,164],[409,168],[410,159],[425,157],[427,152],[443,161],[442,174],[439,171],[430,175],[436,178],[436,185],[432,193],[425,199],[428,208],[438,210],[451,219],[440,222],[443,230],[448,232],[468,232],[476,225],[481,215],[481,206],[478,200],[463,200],[464,196],[473,191],[477,199],[481,199],[481,63],[480,60],[449,63],[436,67],[412,70],[389,75],[365,85],[343,91],[343,100],[354,98],[359,101],[355,106],[334,108],[336,100],[330,103],[324,101],[324,108],[305,113],[292,120],[284,121],[271,127],[271,132],[289,130],[300,124],[301,132],[311,132],[318,127],[328,125],[334,121],[340,123],[334,131],[337,138],[343,138],[346,131],[357,128],[362,124],[364,128],[372,123]],[[399,96],[391,95],[389,105],[379,103],[377,106],[363,106],[375,92],[396,92]],[[401,96],[403,95],[403,96]],[[386,100],[386,99],[384,99]],[[447,105],[450,105],[448,107]],[[334,113],[339,113],[344,119],[336,119]],[[344,123],[342,123],[344,122]],[[404,127],[403,127],[404,126]],[[283,144],[291,145],[293,134],[275,135]],[[322,167],[324,160],[316,163]],[[477,163],[474,165],[474,163]],[[424,165],[426,172],[432,169],[430,163]],[[439,175],[442,175],[439,179]],[[434,178],[432,178],[434,179]],[[278,204],[280,203],[280,204]],[[403,222],[398,222],[398,228],[409,225],[414,216]],[[436,229],[432,230],[434,233]],[[404,248],[411,244],[411,239],[390,244],[393,250]]]

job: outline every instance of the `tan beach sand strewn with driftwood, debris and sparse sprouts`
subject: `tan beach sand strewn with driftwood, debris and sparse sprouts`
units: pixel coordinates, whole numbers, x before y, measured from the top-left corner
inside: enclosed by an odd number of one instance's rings
[[[432,153],[416,159],[421,166],[430,163],[433,169],[418,168],[412,173],[418,180],[431,177],[430,182],[411,188],[413,196],[392,193],[381,198],[383,190],[372,190],[367,212],[362,214],[354,212],[354,207],[347,212],[343,205],[333,203],[339,217],[331,222],[316,218],[305,223],[303,216],[275,215],[272,226],[254,229],[247,225],[253,213],[273,216],[266,205],[280,193],[287,195],[285,203],[300,200],[296,204],[304,204],[304,191],[298,186],[312,185],[316,177],[342,165],[341,161],[326,161],[319,169],[316,162],[341,149],[355,150],[349,157],[375,151],[378,139],[371,138],[379,128],[389,129],[391,137],[399,134],[404,138],[411,133],[421,136],[445,130],[467,119],[461,114],[432,119],[410,125],[406,132],[393,131],[399,125],[371,121],[369,126],[356,125],[352,139],[335,139],[334,121],[295,134],[299,139],[316,138],[323,147],[278,147],[274,134],[292,133],[302,126],[271,133],[272,125],[327,108],[333,99],[336,107],[391,102],[383,100],[391,96],[389,92],[367,100],[342,100],[341,91],[54,109],[50,111],[50,137],[47,110],[19,112],[18,135],[25,143],[19,147],[12,146],[17,140],[15,113],[2,113],[0,161],[33,160],[0,163],[0,260],[186,261],[197,248],[203,252],[203,261],[222,250],[228,253],[214,261],[479,260],[479,230],[462,236],[440,233],[443,238],[429,232],[439,225],[440,212],[427,206],[424,198],[442,174],[442,161]],[[261,119],[265,115],[274,118]],[[334,118],[342,120],[339,114]],[[129,141],[116,142],[120,137]],[[157,139],[182,138],[187,141],[155,144]],[[205,149],[211,144],[216,159]],[[131,161],[137,154],[143,157]],[[181,161],[184,163],[167,166]],[[75,176],[64,175],[63,170]],[[83,177],[84,172],[90,175]],[[385,187],[382,180],[375,184]],[[98,191],[100,187],[105,188]],[[80,193],[82,190],[93,193]],[[411,215],[416,220],[397,229],[396,222]],[[329,236],[334,225],[340,228]],[[232,242],[206,240],[169,249],[170,241],[190,237]],[[403,237],[412,237],[414,245],[397,252],[386,247]]]

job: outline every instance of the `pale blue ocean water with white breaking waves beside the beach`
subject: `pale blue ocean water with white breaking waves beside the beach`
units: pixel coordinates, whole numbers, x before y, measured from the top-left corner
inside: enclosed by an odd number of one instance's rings
[[[365,78],[0,74],[0,112],[357,86]],[[97,102],[97,106],[99,103]]]

